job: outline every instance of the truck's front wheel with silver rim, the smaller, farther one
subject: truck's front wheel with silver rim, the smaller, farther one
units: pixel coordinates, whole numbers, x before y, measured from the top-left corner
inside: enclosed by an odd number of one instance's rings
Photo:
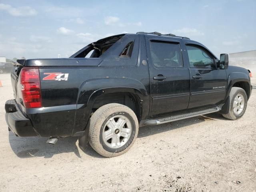
[[[240,119],[244,115],[246,107],[246,92],[240,87],[232,87],[230,91],[230,103],[228,114],[222,114],[222,116],[224,116],[224,118],[231,120]]]

